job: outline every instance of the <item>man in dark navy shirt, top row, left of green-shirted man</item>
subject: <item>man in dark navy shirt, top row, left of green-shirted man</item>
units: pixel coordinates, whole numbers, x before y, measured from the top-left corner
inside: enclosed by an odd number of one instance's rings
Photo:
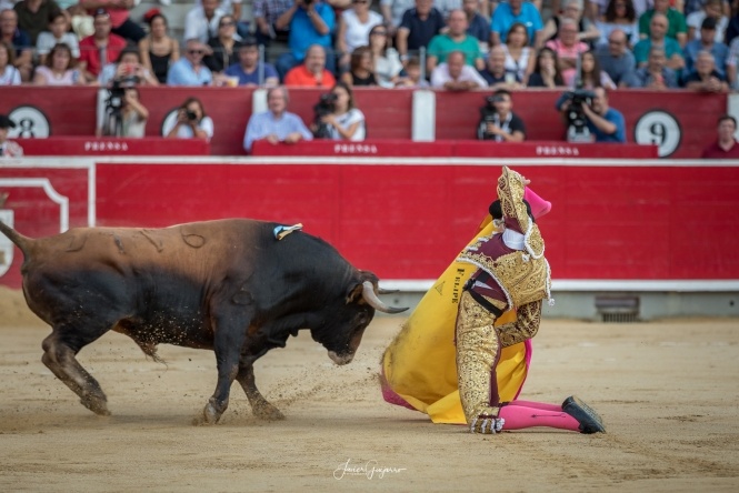
[[[403,13],[398,28],[400,61],[406,62],[411,54],[418,56],[418,51],[427,48],[445,27],[443,17],[432,7],[432,0],[416,0],[416,8]]]

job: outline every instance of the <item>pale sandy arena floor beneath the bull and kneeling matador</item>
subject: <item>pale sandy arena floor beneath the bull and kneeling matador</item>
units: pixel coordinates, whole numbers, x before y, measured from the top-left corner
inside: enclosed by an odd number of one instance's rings
[[[286,421],[254,419],[236,384],[220,424],[193,426],[211,352],[162,345],[162,365],[104,335],[79,355],[108,394],[98,417],[41,363],[49,329],[0,288],[0,491],[739,491],[738,320],[546,320],[522,398],[576,393],[608,434],[487,437],[382,401],[378,361],[402,321],[376,318],[348,366],[308,334],[268,353],[257,381]]]

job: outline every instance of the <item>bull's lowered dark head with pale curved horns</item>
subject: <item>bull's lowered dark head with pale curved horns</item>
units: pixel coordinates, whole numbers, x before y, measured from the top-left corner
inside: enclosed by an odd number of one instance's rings
[[[361,278],[351,284],[344,302],[329,313],[332,322],[327,322],[319,331],[313,331],[313,338],[329,351],[329,358],[336,364],[347,364],[354,358],[354,353],[362,341],[364,329],[375,316],[375,311],[385,313],[400,313],[408,308],[388,306],[378,298],[388,291],[378,288],[378,279],[371,272],[361,272]]]

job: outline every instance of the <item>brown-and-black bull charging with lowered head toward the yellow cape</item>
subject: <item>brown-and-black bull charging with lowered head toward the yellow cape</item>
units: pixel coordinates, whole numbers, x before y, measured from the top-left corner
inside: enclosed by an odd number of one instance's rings
[[[52,328],[43,363],[97,414],[109,414],[100,384],[77,353],[109,330],[154,360],[157,344],[216,352],[218,383],[203,410],[216,423],[237,380],[254,415],[282,419],[254,383],[253,363],[309,329],[338,364],[349,363],[387,306],[378,278],[353,268],[323,240],[277,223],[231,219],[166,229],[81,228],[30,239],[0,222],[23,252],[23,294]]]

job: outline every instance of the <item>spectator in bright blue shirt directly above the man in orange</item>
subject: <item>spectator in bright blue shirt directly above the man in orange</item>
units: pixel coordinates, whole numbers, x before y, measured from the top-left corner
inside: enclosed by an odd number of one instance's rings
[[[328,3],[321,0],[296,0],[294,4],[277,20],[279,29],[290,29],[288,44],[290,51],[277,60],[277,71],[284,78],[290,69],[301,63],[313,44],[323,47],[323,66],[333,72],[336,62],[331,48],[331,32],[336,14]]]

